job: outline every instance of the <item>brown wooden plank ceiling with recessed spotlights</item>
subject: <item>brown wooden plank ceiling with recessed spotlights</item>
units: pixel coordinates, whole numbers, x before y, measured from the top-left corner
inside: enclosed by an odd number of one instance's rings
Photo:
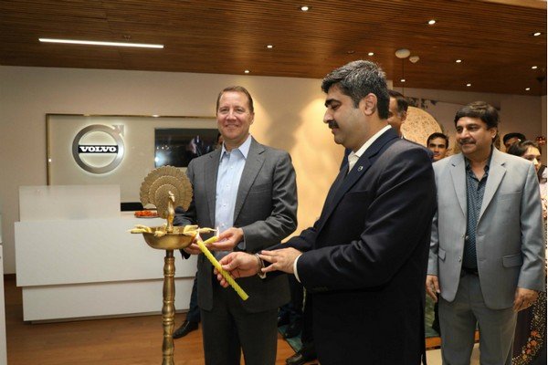
[[[545,94],[546,3],[536,0],[3,0],[0,64],[322,78],[371,59],[395,86]],[[427,20],[437,20],[427,26]],[[542,36],[532,36],[534,31]],[[38,37],[163,49],[41,44]],[[273,49],[267,49],[273,44]],[[406,47],[416,64],[395,57]],[[374,52],[374,56],[367,55]],[[460,64],[456,59],[462,59]],[[537,69],[532,69],[537,66]],[[403,70],[402,70],[403,68]],[[470,88],[466,83],[471,83]],[[525,88],[531,88],[525,91]]]

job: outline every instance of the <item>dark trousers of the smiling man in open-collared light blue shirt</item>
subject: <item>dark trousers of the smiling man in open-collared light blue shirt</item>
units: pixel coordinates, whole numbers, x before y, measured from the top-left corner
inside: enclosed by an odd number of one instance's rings
[[[214,283],[213,309],[200,310],[205,365],[274,365],[278,346],[278,308],[249,313],[231,287]]]

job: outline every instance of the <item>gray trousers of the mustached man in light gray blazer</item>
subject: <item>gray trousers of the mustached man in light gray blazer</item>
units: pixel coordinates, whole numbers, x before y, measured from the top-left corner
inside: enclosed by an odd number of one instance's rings
[[[441,289],[443,291],[443,287]],[[477,325],[481,365],[511,365],[516,318],[512,308],[485,306],[478,276],[460,277],[455,300],[448,302],[439,298],[443,364],[469,365]]]

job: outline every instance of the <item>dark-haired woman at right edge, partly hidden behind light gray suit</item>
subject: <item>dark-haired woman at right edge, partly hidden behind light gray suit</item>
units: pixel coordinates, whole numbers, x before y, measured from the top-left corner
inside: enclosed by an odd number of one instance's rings
[[[541,165],[541,150],[535,142],[521,141],[514,143],[508,153],[531,161],[537,173],[543,170],[545,174],[546,166]],[[543,178],[540,173],[538,176],[543,203],[545,232],[546,178],[545,175]],[[544,236],[544,244],[546,244],[546,236]],[[537,301],[530,308],[518,313],[511,363],[512,365],[546,364],[546,292],[539,293]]]

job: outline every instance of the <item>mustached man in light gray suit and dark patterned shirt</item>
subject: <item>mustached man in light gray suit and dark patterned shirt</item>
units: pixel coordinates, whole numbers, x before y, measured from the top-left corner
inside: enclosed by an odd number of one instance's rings
[[[511,364],[518,311],[544,290],[539,187],[531,162],[498,151],[499,115],[477,101],[455,116],[462,153],[433,164],[427,294],[440,294],[444,364],[469,364],[479,328],[482,365]]]

